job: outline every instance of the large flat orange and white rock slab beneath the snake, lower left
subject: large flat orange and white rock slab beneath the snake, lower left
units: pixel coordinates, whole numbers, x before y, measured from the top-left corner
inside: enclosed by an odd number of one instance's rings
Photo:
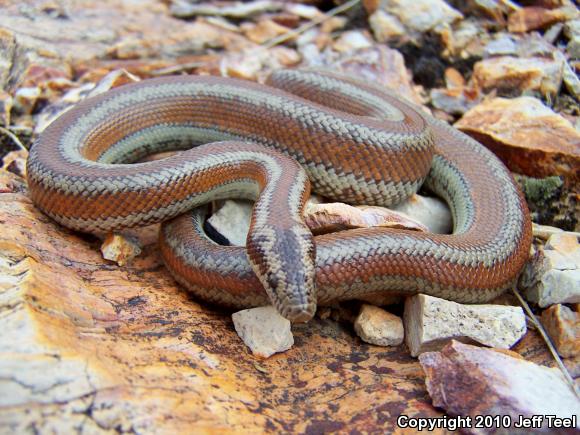
[[[175,283],[155,244],[112,265],[24,189],[0,170],[2,428],[390,433],[400,414],[442,415],[404,347],[315,319],[295,328],[294,348],[257,360],[226,311]]]

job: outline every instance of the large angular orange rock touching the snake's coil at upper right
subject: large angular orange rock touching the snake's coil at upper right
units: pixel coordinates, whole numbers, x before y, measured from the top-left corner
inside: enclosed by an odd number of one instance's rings
[[[455,127],[490,148],[512,171],[531,177],[564,176],[580,183],[580,132],[532,97],[491,98]]]

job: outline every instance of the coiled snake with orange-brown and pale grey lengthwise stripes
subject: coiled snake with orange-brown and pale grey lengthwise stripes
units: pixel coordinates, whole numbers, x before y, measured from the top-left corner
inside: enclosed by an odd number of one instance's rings
[[[179,152],[143,161],[168,150]],[[75,231],[161,222],[164,263],[196,297],[273,305],[292,322],[318,304],[391,294],[484,303],[514,285],[531,246],[525,199],[492,152],[384,86],[329,71],[117,87],[39,135],[27,178],[35,206]],[[385,207],[421,188],[449,205],[453,230],[314,237],[303,218],[311,188]],[[205,205],[225,198],[255,201],[245,247],[205,230]]]

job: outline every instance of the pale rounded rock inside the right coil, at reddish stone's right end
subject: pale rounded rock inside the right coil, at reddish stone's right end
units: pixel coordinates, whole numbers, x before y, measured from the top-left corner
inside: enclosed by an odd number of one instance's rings
[[[415,194],[391,209],[419,221],[432,233],[448,234],[453,228],[451,211],[447,204],[438,198]]]

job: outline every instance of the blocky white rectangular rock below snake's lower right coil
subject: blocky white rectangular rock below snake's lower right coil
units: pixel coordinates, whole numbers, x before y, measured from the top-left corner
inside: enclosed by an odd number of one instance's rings
[[[521,307],[461,305],[422,294],[407,298],[404,319],[412,356],[441,349],[450,340],[509,349],[526,333]]]

